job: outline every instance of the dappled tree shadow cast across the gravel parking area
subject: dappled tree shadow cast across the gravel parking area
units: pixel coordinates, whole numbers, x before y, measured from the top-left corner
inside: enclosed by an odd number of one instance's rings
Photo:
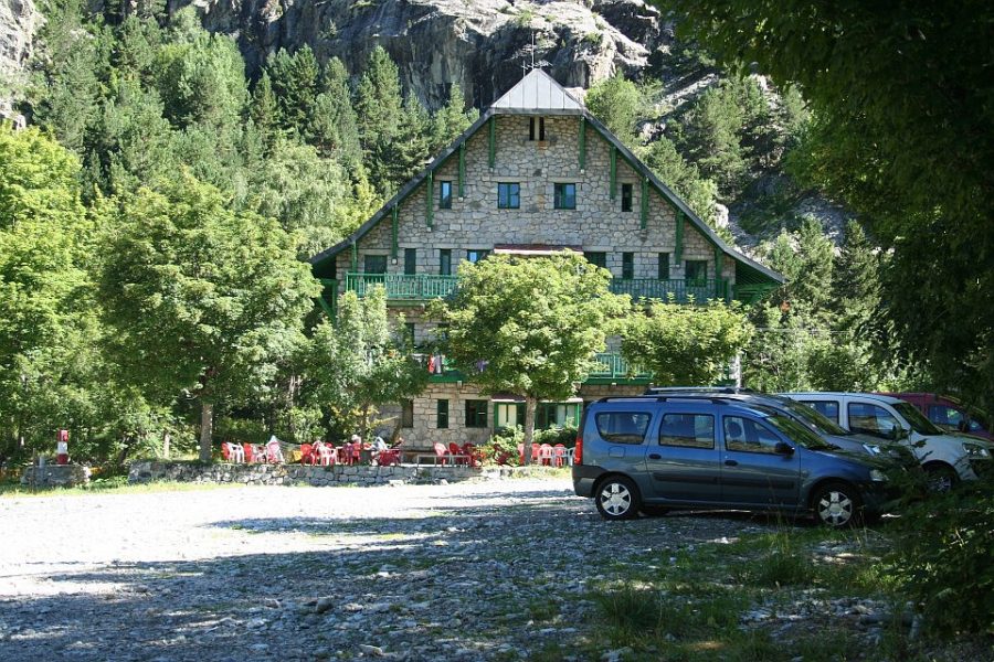
[[[586,577],[770,524],[728,512],[606,523],[562,490],[482,503],[495,499],[507,495],[442,496],[413,517],[231,517],[210,527],[246,549],[256,535],[313,548],[55,574],[75,592],[0,602],[0,660],[351,660],[376,645],[385,659],[478,661],[507,659],[508,642],[541,655],[550,640],[568,654],[583,647]]]

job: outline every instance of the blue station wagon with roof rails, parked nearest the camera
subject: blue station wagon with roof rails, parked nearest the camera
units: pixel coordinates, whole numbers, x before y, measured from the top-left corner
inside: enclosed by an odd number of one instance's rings
[[[708,396],[610,397],[583,414],[573,489],[607,520],[639,510],[813,514],[848,526],[884,512],[892,461],[848,455],[771,407]]]

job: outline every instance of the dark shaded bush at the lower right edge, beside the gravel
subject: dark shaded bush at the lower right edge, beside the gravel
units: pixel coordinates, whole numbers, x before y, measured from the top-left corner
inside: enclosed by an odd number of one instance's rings
[[[898,523],[889,570],[935,634],[994,633],[994,484],[963,483],[913,504]]]

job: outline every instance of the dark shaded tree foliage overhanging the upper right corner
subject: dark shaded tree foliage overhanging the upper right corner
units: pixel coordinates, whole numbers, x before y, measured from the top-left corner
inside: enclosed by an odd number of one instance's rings
[[[994,8],[676,0],[720,62],[795,83],[815,115],[807,181],[892,249],[881,312],[909,360],[994,393]],[[951,320],[955,320],[951,323]]]

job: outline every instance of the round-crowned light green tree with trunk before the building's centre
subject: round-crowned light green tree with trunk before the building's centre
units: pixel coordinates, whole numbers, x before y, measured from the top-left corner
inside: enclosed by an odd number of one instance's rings
[[[543,258],[491,256],[459,266],[444,310],[446,355],[484,393],[526,401],[526,458],[539,399],[573,395],[603,351],[609,321],[626,298],[607,291],[609,274],[564,252]]]

